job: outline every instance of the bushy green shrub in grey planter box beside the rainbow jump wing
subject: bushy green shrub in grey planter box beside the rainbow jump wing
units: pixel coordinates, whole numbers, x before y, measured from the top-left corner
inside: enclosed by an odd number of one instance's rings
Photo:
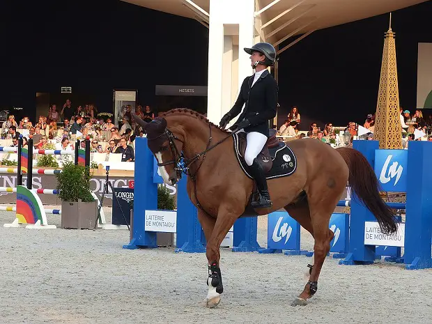
[[[74,162],[63,163],[63,171],[56,174],[59,197],[63,201],[75,201],[81,199],[88,203],[94,201],[90,190],[90,170],[82,164]]]

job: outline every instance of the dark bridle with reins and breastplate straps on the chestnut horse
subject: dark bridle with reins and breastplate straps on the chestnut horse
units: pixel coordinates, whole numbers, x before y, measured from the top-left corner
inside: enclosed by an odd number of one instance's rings
[[[173,155],[173,160],[170,160],[167,162],[161,162],[161,163],[158,162],[157,167],[164,167],[166,165],[174,164],[175,165],[174,169],[176,170],[177,178],[180,179],[182,177],[183,173],[185,173],[186,176],[190,176],[190,179],[194,183],[194,194],[195,194],[195,199],[196,199],[196,206],[198,208],[200,208],[201,210],[203,210],[203,212],[206,213],[208,216],[215,217],[214,215],[210,215],[208,212],[206,212],[206,210],[204,210],[203,207],[201,206],[201,203],[199,203],[198,196],[196,196],[196,175],[197,175],[199,169],[201,169],[201,166],[203,165],[204,160],[206,160],[207,152],[212,150],[213,148],[215,148],[219,144],[221,144],[223,141],[225,141],[229,137],[231,137],[232,134],[227,135],[226,137],[224,137],[220,141],[217,141],[217,143],[210,146],[210,144],[212,142],[212,127],[211,127],[210,123],[208,124],[208,130],[209,130],[209,136],[208,136],[208,142],[207,142],[206,149],[204,151],[201,151],[200,153],[197,153],[191,159],[185,158],[185,156],[183,155],[183,152],[181,154],[178,152],[178,148],[177,148],[176,144],[174,143],[174,141],[180,141],[180,143],[182,143],[183,145],[185,144],[185,141],[176,137],[176,135],[173,134],[173,132],[171,132],[171,130],[165,129],[165,131],[162,134],[158,135],[157,137],[153,137],[151,139],[147,138],[147,139],[149,141],[151,141],[154,139],[158,139],[164,135],[167,136],[168,142],[169,142],[169,148],[171,150],[171,154]],[[201,163],[199,164],[198,167],[196,167],[195,172],[191,173],[190,172],[190,165],[192,163],[200,160],[201,156],[203,157],[201,160]]]

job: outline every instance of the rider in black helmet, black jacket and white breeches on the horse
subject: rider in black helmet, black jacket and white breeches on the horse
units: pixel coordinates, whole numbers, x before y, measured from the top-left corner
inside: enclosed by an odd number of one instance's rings
[[[272,206],[268,193],[267,180],[261,165],[256,160],[269,137],[269,121],[276,116],[278,86],[267,68],[277,61],[275,47],[269,43],[257,43],[252,48],[245,48],[250,54],[254,75],[246,77],[240,88],[240,93],[233,108],[225,114],[219,125],[222,129],[235,118],[244,104],[245,109],[231,130],[243,129],[247,133],[245,161],[251,175],[256,181],[259,198],[252,201],[253,208],[269,208]]]

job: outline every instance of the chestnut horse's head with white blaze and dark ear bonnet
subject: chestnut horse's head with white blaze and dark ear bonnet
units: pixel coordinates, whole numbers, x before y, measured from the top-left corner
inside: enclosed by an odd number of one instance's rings
[[[147,146],[156,157],[164,183],[174,185],[182,175],[179,164],[183,141],[167,129],[165,118],[155,118],[150,123],[143,121],[135,114],[132,114],[132,118],[142,126],[147,134]]]

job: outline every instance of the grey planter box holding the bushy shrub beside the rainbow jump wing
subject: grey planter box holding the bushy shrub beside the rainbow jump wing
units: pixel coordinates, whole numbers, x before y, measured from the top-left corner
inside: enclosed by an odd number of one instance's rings
[[[62,229],[94,229],[97,215],[97,201],[61,201]]]

